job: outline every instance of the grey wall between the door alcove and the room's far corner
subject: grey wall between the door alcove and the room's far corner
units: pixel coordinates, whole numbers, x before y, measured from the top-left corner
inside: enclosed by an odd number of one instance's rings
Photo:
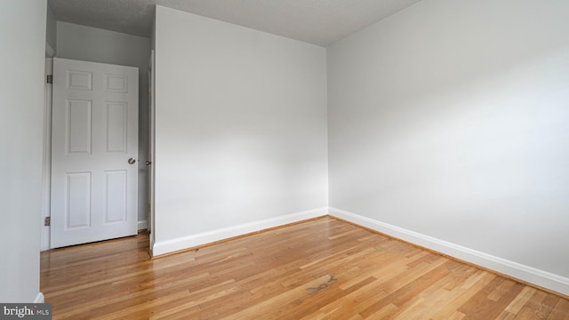
[[[325,68],[325,48],[156,7],[157,245],[327,207]]]

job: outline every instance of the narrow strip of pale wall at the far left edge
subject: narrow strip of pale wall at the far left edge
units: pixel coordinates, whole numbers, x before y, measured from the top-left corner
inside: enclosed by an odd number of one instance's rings
[[[0,301],[39,294],[45,0],[0,2]]]

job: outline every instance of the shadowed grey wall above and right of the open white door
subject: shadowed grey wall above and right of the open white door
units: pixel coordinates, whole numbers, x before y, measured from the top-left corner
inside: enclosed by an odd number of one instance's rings
[[[57,56],[139,68],[139,221],[148,212],[148,61],[150,39],[57,22]],[[139,223],[139,226],[143,226]],[[146,227],[144,227],[146,228]]]

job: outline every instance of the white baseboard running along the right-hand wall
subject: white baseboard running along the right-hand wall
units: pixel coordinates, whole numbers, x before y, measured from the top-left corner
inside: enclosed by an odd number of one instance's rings
[[[365,228],[370,228],[388,236],[393,236],[412,244],[417,244],[427,249],[443,253],[456,259],[464,260],[477,266],[488,268],[506,276],[535,284],[554,292],[569,295],[569,278],[543,271],[538,268],[505,260],[485,252],[463,247],[458,244],[446,242],[432,236],[426,236],[405,228],[390,225],[378,220],[373,220],[352,212],[330,208],[330,215],[347,220]]]

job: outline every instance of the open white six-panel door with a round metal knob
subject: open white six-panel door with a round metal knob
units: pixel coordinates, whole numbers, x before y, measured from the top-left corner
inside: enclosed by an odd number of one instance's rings
[[[137,233],[138,72],[53,59],[52,248]]]

